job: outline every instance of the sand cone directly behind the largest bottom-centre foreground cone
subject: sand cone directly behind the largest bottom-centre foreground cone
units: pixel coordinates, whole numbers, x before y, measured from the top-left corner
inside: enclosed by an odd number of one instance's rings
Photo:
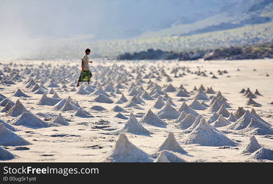
[[[135,115],[133,113],[130,113],[130,117],[128,121],[125,123],[125,125],[116,130],[110,132],[110,134],[113,135],[119,135],[120,133],[132,133],[136,135],[150,135],[150,132],[145,129],[136,119]]]

